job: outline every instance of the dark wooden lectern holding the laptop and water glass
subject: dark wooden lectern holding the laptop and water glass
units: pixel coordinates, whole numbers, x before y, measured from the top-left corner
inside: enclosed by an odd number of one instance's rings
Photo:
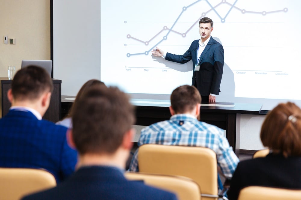
[[[62,81],[58,79],[52,79],[53,82],[53,92],[51,94],[51,100],[49,108],[46,111],[43,119],[49,121],[57,122],[61,118],[61,84]],[[7,91],[11,88],[11,81],[8,78],[0,78],[1,88],[0,88],[0,101],[1,101],[1,117],[6,115],[11,107],[11,103],[7,98]]]

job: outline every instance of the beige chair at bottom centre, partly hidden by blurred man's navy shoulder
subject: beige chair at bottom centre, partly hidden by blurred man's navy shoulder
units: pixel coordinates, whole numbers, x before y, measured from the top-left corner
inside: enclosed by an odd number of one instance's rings
[[[200,200],[200,188],[186,177],[126,172],[129,180],[143,180],[144,184],[175,193],[179,200]]]

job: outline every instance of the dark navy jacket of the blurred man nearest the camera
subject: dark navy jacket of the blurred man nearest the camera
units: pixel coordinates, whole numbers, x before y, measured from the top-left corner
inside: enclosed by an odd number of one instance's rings
[[[25,197],[23,200],[174,200],[172,193],[128,181],[123,172],[109,166],[86,166],[76,171],[57,187]]]

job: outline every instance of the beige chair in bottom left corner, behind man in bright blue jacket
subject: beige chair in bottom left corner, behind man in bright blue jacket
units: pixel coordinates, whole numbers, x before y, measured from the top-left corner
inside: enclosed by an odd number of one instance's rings
[[[0,199],[17,200],[55,186],[54,176],[42,169],[0,168]]]

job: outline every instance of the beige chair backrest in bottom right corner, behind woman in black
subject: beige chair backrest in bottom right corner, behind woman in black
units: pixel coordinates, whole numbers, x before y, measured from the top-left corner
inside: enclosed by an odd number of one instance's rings
[[[240,190],[238,200],[297,200],[301,199],[301,190],[289,190],[273,187],[249,186]]]

